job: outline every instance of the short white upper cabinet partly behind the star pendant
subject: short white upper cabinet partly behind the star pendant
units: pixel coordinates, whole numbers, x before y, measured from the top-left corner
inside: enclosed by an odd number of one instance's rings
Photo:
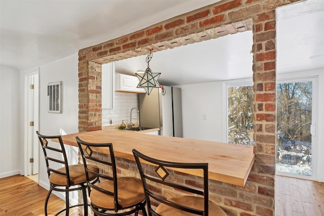
[[[132,92],[145,93],[143,88],[137,88],[139,80],[136,76],[116,73],[115,77],[115,91],[116,92]]]

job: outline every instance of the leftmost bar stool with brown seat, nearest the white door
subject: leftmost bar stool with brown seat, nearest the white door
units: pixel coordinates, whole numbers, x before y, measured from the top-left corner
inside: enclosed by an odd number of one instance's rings
[[[84,215],[88,215],[87,178],[84,165],[68,165],[61,136],[45,136],[39,134],[38,131],[36,134],[44,151],[47,174],[50,181],[50,190],[45,200],[45,215],[48,215],[47,205],[52,191],[65,192],[66,207],[55,215],[58,215],[63,211],[65,211],[66,215],[69,215],[69,209],[76,206],[84,206]],[[51,139],[57,139],[59,144],[49,142]],[[99,170],[98,166],[95,165],[89,165],[88,168],[93,171]],[[95,175],[90,174],[89,180],[96,182],[98,181],[98,178]],[[84,203],[70,206],[69,192],[77,190],[82,191]]]

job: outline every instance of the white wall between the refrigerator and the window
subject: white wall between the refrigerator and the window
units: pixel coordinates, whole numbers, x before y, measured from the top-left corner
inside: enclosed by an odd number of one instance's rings
[[[183,137],[224,142],[223,82],[178,87],[181,88]]]

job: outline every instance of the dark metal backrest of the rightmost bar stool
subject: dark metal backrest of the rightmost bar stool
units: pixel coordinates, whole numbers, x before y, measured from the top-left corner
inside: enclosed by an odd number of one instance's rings
[[[151,203],[164,203],[171,207],[187,211],[193,214],[208,215],[208,163],[177,163],[163,161],[148,157],[135,149],[133,149],[133,154],[142,179],[149,215],[159,215],[152,209]],[[182,169],[197,169],[199,173],[202,172],[202,186],[196,188],[185,184],[177,183],[177,181],[175,180],[175,178],[177,177],[174,176],[177,173],[177,171],[181,172]],[[185,195],[203,197],[204,210],[194,209],[192,207],[190,208],[185,205],[182,205],[181,203],[175,203],[173,201],[170,201],[170,199],[168,199],[170,197],[165,197],[164,195],[161,195],[159,192],[157,192],[160,190],[156,190],[156,188],[148,186],[148,183],[151,184],[152,182],[155,183],[157,187],[159,185],[172,187],[177,191],[177,193],[182,191]]]

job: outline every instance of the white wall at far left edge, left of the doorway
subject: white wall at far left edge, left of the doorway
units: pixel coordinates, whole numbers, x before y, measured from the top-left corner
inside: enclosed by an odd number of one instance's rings
[[[17,175],[20,157],[19,72],[0,66],[0,178]]]

